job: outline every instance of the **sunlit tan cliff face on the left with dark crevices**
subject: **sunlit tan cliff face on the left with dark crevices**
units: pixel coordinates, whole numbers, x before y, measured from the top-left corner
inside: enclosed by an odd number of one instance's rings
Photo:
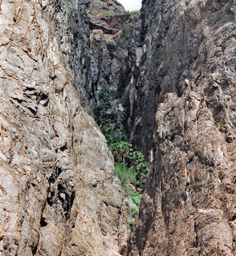
[[[117,255],[127,236],[112,154],[80,103],[98,72],[84,10],[0,3],[1,255]]]

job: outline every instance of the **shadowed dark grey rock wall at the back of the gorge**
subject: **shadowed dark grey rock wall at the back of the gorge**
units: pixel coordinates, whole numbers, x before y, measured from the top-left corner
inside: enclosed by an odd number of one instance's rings
[[[113,19],[115,20],[116,18],[114,17]],[[94,29],[95,27],[90,24],[92,29],[92,54],[98,60],[100,70],[98,88],[102,88],[104,84],[107,84],[112,90],[118,91],[121,97],[124,96],[124,101],[128,94],[130,95],[129,98],[133,99],[131,92],[133,92],[133,86],[136,83],[135,76],[138,68],[135,63],[140,62],[142,54],[142,49],[140,49],[142,38],[140,38],[141,24],[139,16],[138,14],[131,15],[127,22],[123,22],[122,26],[119,27],[120,30],[115,35],[112,33],[112,24],[107,23],[107,26],[107,33],[105,33],[105,29]],[[136,54],[138,55],[137,59]],[[119,101],[122,100],[119,99]],[[124,121],[124,125],[128,127],[127,130],[129,132],[131,124],[130,122],[126,124],[126,116],[132,111],[129,104],[124,102],[124,106],[122,106],[120,102],[115,102],[114,100],[112,108],[119,116],[119,120],[121,122]]]

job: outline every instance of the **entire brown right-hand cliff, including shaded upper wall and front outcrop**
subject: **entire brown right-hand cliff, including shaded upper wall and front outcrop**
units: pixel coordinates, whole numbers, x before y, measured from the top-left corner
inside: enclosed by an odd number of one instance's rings
[[[154,149],[126,255],[236,254],[235,12],[235,1],[143,2],[131,129]]]

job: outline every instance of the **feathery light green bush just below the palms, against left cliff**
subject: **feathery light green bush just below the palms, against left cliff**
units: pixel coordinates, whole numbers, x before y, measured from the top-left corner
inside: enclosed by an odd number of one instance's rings
[[[127,163],[121,162],[121,163],[115,163],[115,170],[114,172],[117,173],[117,175],[120,177],[121,182],[123,184],[136,184],[136,174],[131,172],[128,167]]]

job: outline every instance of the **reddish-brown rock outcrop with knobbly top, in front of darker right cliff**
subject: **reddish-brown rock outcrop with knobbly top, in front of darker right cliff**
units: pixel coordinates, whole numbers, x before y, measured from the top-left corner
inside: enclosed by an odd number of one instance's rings
[[[235,163],[202,88],[167,94],[128,255],[234,255]]]

